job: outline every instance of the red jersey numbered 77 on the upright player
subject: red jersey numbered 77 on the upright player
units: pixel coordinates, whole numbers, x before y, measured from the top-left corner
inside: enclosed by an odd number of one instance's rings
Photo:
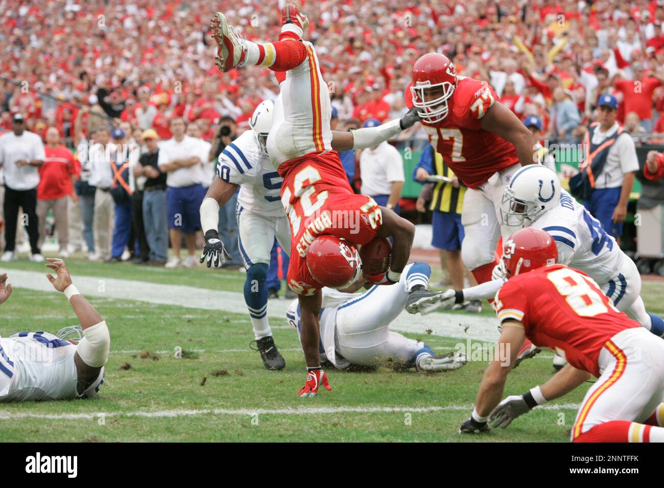
[[[421,121],[431,145],[442,154],[454,174],[470,188],[485,183],[496,171],[519,163],[512,143],[482,129],[482,118],[500,99],[487,82],[457,76],[458,84],[448,99],[448,116],[430,124]],[[406,106],[412,108],[410,86]]]

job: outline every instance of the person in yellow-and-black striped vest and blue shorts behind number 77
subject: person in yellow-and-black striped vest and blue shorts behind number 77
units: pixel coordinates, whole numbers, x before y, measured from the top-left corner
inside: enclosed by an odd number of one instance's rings
[[[441,268],[444,274],[447,268],[452,284],[462,284],[465,268],[461,261],[461,242],[464,235],[461,207],[467,187],[454,175],[442,155],[435,152],[431,146],[422,152],[414,170],[414,180],[424,183],[416,204],[418,211],[426,212],[424,205],[427,201],[431,202],[429,206],[432,210],[433,228],[431,245],[440,250]],[[482,309],[479,300],[460,305],[469,312],[479,313]]]

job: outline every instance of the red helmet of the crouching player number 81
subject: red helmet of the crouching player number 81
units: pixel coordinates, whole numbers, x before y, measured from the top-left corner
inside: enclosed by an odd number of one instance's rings
[[[503,266],[507,278],[556,264],[558,248],[548,232],[524,227],[509,236],[503,246]]]

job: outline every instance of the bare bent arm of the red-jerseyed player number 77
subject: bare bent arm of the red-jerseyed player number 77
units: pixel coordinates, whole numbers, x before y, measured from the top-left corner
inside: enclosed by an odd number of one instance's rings
[[[482,118],[482,128],[513,143],[521,166],[537,164],[535,139],[523,122],[501,103],[495,103]]]

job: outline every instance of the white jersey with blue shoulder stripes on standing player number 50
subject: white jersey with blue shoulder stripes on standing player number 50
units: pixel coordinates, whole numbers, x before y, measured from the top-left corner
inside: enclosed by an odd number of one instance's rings
[[[245,212],[269,217],[284,215],[280,197],[284,179],[275,171],[270,157],[260,150],[251,129],[220,153],[216,174],[228,183],[240,185],[238,204]]]

